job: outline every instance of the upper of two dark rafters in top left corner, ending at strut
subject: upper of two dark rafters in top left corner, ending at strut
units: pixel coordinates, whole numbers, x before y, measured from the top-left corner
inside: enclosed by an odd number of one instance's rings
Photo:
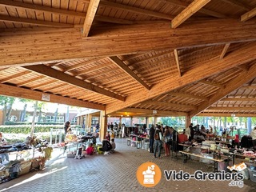
[[[66,16],[73,16],[78,18],[85,18],[85,13],[80,13],[72,10],[62,10],[53,8],[50,6],[40,6],[36,4],[26,3],[26,2],[14,2],[10,0],[0,0],[0,5],[14,8],[24,8],[26,10],[40,10],[50,14],[62,14]],[[2,16],[1,16],[2,17]]]

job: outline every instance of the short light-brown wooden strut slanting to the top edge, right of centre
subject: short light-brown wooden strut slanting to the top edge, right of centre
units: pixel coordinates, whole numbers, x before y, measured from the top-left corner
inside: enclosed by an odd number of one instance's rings
[[[173,29],[177,28],[185,22],[186,19],[190,18],[193,14],[195,14],[198,10],[200,10],[203,6],[205,6],[210,0],[194,0],[191,2],[189,6],[186,7],[185,10],[182,10],[182,13],[178,14],[172,21],[171,27]]]

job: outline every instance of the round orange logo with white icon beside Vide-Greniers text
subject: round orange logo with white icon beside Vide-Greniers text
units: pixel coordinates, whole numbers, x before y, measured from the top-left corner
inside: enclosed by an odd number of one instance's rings
[[[138,167],[136,176],[142,186],[152,187],[160,182],[162,174],[154,162],[145,162]]]

